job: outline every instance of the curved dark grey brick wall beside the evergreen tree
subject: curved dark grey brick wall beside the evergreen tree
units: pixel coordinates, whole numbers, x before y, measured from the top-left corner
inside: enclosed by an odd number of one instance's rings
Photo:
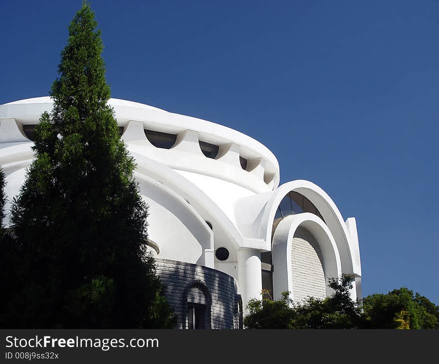
[[[233,277],[216,269],[167,259],[156,258],[156,267],[168,302],[178,316],[176,329],[188,326],[188,299],[207,304],[208,328],[234,329],[239,323],[242,327],[240,296]]]

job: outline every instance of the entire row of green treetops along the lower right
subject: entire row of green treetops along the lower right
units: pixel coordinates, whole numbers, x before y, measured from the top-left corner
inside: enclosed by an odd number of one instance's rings
[[[280,299],[250,300],[248,329],[439,329],[439,306],[407,288],[351,299],[353,277],[329,279],[330,297],[294,302],[289,292]],[[264,295],[265,297],[267,295]]]

